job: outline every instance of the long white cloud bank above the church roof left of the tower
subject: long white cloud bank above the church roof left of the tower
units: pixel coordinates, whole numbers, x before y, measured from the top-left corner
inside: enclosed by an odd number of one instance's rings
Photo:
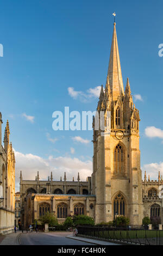
[[[46,180],[53,172],[53,180],[60,180],[66,172],[67,180],[72,180],[74,176],[77,179],[78,172],[80,180],[85,181],[87,176],[92,173],[92,161],[81,161],[76,157],[53,157],[43,159],[33,154],[22,154],[15,151],[16,159],[16,191],[19,190],[20,170],[22,170],[23,180],[35,180],[37,171],[39,171],[40,180]]]

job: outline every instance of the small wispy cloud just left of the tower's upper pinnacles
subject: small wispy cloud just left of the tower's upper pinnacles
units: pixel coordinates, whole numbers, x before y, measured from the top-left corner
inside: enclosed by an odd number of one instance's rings
[[[84,92],[76,91],[73,87],[68,87],[68,94],[74,99],[79,99],[82,102],[89,102],[91,98],[99,97],[101,86],[90,88]]]

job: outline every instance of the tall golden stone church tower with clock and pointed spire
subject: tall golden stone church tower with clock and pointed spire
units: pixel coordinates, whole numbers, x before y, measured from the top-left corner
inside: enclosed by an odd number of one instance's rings
[[[139,150],[139,111],[133,105],[129,79],[124,91],[116,23],[105,90],[101,87],[97,112],[93,119],[92,194],[96,195],[96,223],[116,216],[129,217],[130,224],[142,224],[142,175]],[[110,119],[107,119],[109,113]],[[108,121],[109,120],[109,121]]]

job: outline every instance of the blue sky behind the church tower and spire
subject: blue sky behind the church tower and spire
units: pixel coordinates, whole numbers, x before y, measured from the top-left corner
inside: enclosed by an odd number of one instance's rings
[[[105,84],[114,11],[123,83],[126,86],[129,77],[132,94],[142,97],[135,102],[141,117],[141,167],[153,178],[159,169],[163,173],[163,57],[158,56],[158,46],[163,44],[163,2],[7,0],[0,4],[4,47],[0,109],[3,130],[9,119],[17,152],[16,177],[22,169],[24,178],[27,173],[34,178],[41,168],[42,178],[51,170],[56,179],[65,170],[70,178],[77,178],[80,169],[82,178],[90,175],[92,143],[75,142],[72,137],[91,141],[92,132],[53,131],[52,113],[65,106],[70,111],[96,110],[97,97],[87,102],[73,99],[68,87],[86,93]],[[150,138],[145,134],[148,126],[161,130],[155,135],[149,131]]]

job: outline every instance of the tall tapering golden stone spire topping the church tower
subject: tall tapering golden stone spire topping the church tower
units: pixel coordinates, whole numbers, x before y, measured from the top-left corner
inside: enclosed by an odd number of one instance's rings
[[[118,42],[116,34],[116,23],[114,22],[114,31],[112,35],[109,68],[108,68],[109,84],[112,93],[112,100],[117,100],[118,96],[124,95],[122,71],[120,64],[120,55],[118,51]]]

